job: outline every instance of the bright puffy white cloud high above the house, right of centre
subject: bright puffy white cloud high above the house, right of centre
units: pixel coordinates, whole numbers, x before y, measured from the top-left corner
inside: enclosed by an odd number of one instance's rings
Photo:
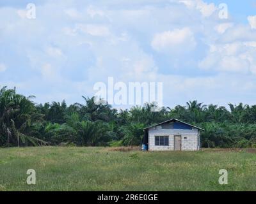
[[[196,41],[193,32],[188,27],[184,27],[157,33],[151,46],[155,50],[163,52],[188,52],[196,47]]]

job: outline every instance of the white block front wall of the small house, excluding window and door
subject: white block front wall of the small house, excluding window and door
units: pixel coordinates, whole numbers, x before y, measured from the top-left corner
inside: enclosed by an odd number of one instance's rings
[[[148,129],[148,150],[174,150],[175,135],[181,136],[181,150],[200,149],[198,129],[163,129],[161,126],[156,126]],[[156,146],[155,136],[169,136],[169,146]]]

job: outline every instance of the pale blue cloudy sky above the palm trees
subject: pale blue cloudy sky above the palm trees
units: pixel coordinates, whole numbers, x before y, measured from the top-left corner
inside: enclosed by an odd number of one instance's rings
[[[108,77],[161,82],[169,107],[254,105],[256,0],[0,1],[0,87],[83,103]]]

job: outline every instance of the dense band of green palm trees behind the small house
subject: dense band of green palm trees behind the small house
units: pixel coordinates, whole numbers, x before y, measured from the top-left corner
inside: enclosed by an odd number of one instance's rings
[[[17,94],[15,89],[0,89],[0,146],[140,145],[143,128],[177,118],[205,129],[202,147],[256,147],[256,105],[203,105],[189,101],[186,106],[151,112],[154,104],[116,110],[108,104],[67,106],[52,102],[33,103],[33,97]]]

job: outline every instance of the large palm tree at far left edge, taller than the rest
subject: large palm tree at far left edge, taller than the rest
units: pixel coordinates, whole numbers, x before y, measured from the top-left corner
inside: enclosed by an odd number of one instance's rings
[[[34,112],[34,104],[30,101],[32,97],[26,98],[16,94],[15,89],[0,89],[0,136],[1,143],[10,147],[10,144],[20,146],[22,143],[45,143],[43,140],[29,136],[29,127],[32,119],[40,117]]]

